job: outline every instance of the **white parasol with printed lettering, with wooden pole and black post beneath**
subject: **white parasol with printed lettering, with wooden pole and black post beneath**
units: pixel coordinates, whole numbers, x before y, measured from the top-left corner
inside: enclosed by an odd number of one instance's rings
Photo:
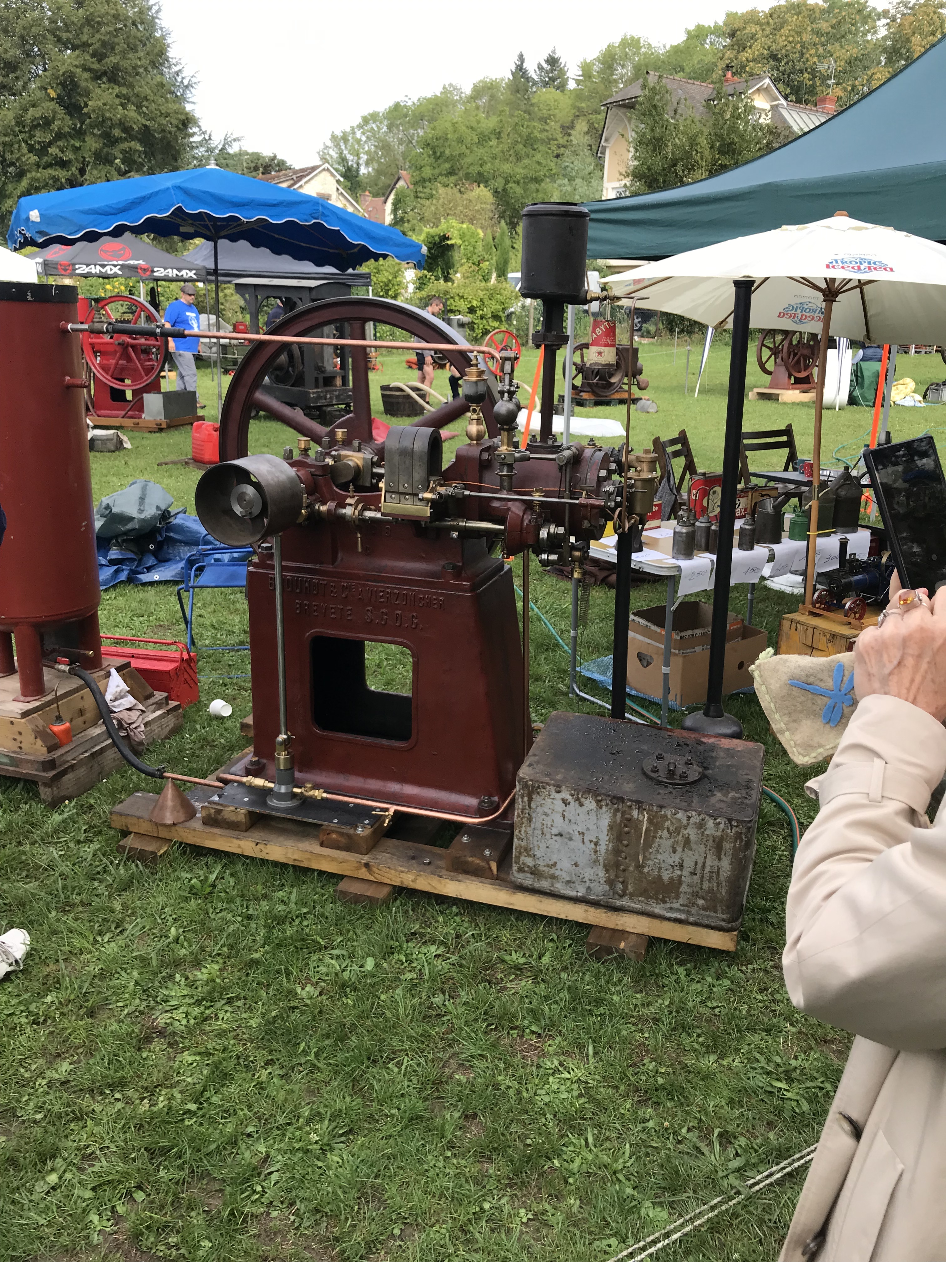
[[[720,539],[732,538],[735,521],[749,327],[805,329],[820,334],[805,582],[805,599],[810,602],[829,334],[832,331],[836,336],[868,342],[946,345],[946,246],[909,232],[864,223],[838,211],[831,218],[814,223],[791,225],[720,241],[703,250],[687,250],[609,276],[604,284],[616,298],[632,298],[656,310],[674,312],[713,328],[733,329]],[[701,716],[691,714],[685,721],[685,726],[696,731],[723,736],[742,734],[737,721],[725,716],[721,707],[730,569],[729,549],[724,548],[716,558],[706,707]]]

